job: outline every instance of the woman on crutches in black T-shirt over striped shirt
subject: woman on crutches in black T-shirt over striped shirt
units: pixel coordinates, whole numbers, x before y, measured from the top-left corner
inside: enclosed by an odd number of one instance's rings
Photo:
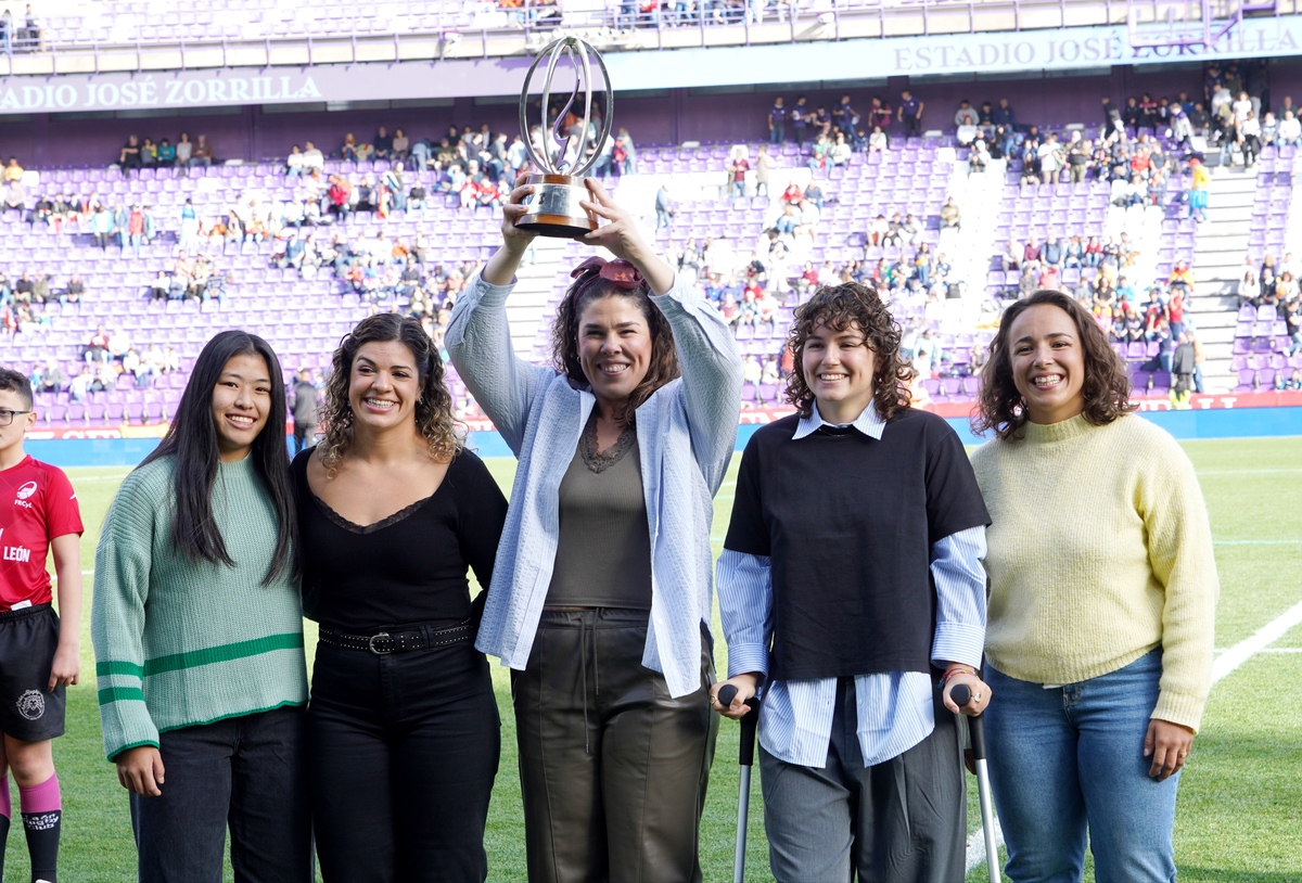
[[[763,688],[760,779],[779,883],[965,875],[958,725],[990,689],[986,525],[944,419],[909,406],[900,327],[871,288],[796,311],[797,414],[742,455],[719,559],[729,706]],[[960,708],[950,690],[966,684]]]

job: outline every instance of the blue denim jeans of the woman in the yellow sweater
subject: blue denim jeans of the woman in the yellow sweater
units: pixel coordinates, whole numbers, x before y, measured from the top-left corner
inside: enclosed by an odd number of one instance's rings
[[[1014,883],[1079,883],[1086,831],[1099,883],[1173,883],[1180,774],[1148,778],[1148,715],[1161,650],[1046,688],[986,667],[995,807]]]

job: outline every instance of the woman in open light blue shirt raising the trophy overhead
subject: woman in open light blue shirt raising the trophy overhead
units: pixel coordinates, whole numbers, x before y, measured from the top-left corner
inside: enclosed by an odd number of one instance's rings
[[[717,719],[711,498],[741,359],[719,313],[587,178],[603,223],[556,314],[555,363],[516,358],[506,297],[530,188],[448,326],[452,361],[519,458],[479,629],[512,669],[533,883],[700,880]]]

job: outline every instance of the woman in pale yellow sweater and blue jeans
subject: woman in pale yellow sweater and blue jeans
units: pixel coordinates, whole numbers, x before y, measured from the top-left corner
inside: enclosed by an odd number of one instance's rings
[[[1193,465],[1130,415],[1125,365],[1072,297],[1010,306],[973,456],[988,530],[986,681],[1014,883],[1176,879],[1176,788],[1211,677],[1219,593]]]

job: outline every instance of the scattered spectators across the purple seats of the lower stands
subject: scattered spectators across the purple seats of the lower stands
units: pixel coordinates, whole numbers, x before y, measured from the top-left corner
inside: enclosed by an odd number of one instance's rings
[[[1204,217],[1206,199],[1199,202],[1197,195],[1182,193],[1182,185],[1168,185],[1172,177],[1182,178],[1191,172],[1191,190],[1199,188],[1199,181],[1206,189],[1207,165],[1247,167],[1263,146],[1302,146],[1302,122],[1292,100],[1285,98],[1280,107],[1271,107],[1268,89],[1262,82],[1263,66],[1255,61],[1208,64],[1206,72],[1203,100],[1190,99],[1186,92],[1174,99],[1138,95],[1112,107],[1104,99],[1105,122],[1098,132],[1081,128],[1042,132],[1034,124],[1019,122],[1006,98],[979,104],[963,100],[952,120],[949,111],[944,111],[944,124],[947,129],[952,125],[960,156],[975,175],[984,173],[996,160],[1008,159],[1009,168],[1016,169],[1014,175],[1027,188],[1108,182],[1109,198],[1118,207],[1180,201],[1189,204],[1193,216]],[[574,115],[562,120],[568,152],[561,159],[573,165],[594,158],[596,175],[634,173],[637,150],[626,130],[620,129],[599,151],[602,111],[595,109],[596,119],[586,128]],[[658,193],[656,223],[671,229],[671,262],[680,272],[694,276],[738,339],[750,341],[749,383],[776,387],[785,379],[790,371],[790,354],[784,345],[790,307],[818,285],[849,280],[872,284],[900,307],[902,349],[914,361],[919,378],[966,378],[979,372],[984,348],[952,336],[943,340],[928,311],[931,305],[962,297],[965,290],[945,251],[922,236],[928,220],[932,228],[939,221],[941,232],[962,229],[962,212],[953,199],[947,199],[934,219],[907,212],[876,215],[862,231],[859,259],[814,258],[815,249],[828,245],[827,232],[820,229],[825,199],[820,178],[829,169],[852,163],[857,152],[892,151],[901,137],[921,135],[924,126],[934,124],[936,109],[930,108],[931,116],[924,119],[927,111],[907,91],[901,92],[894,105],[880,95],[857,102],[844,94],[829,107],[811,105],[806,96],[797,96],[790,104],[784,96],[776,98],[767,116],[768,143],[754,148],[754,155],[750,147],[738,146],[724,160],[724,193],[734,199],[769,197],[771,186],[783,188],[781,181],[775,181],[776,146],[788,142],[799,146],[797,164],[806,167],[812,178],[805,186],[788,181],[784,189],[775,190],[776,216],[762,234],[760,247],[754,250],[733,247],[736,240],[729,240],[725,229],[713,237],[673,238],[674,203],[669,186]],[[542,154],[542,128],[535,126],[530,138]],[[1219,161],[1211,156],[1216,151]],[[212,161],[206,138],[199,135],[191,143],[186,133],[181,133],[176,145],[132,135],[117,156],[124,173],[148,167],[177,168],[181,173]],[[310,141],[294,145],[284,160],[284,173],[293,180],[292,198],[268,199],[250,190],[208,216],[186,201],[178,219],[164,217],[161,223],[150,206],[107,204],[95,194],[81,198],[49,191],[29,197],[23,189],[25,171],[16,158],[0,177],[5,186],[4,210],[17,212],[33,229],[90,233],[99,247],[107,250],[113,245],[124,257],[139,255],[142,245],[155,240],[161,228],[173,229],[173,220],[178,220],[174,259],[158,271],[146,297],[220,298],[224,281],[217,270],[220,255],[270,242],[270,251],[266,246],[260,249],[270,266],[294,271],[302,279],[323,275],[337,279],[370,311],[396,309],[419,318],[441,346],[450,306],[473,273],[473,264],[437,263],[423,234],[406,240],[387,233],[383,225],[378,232],[359,234],[345,224],[358,212],[384,220],[393,212],[419,211],[435,199],[440,204],[493,210],[529,161],[519,135],[493,133],[488,125],[452,126],[437,143],[411,138],[402,129],[391,134],[379,126],[368,141],[345,134],[328,154]],[[923,211],[919,206],[919,212]],[[887,254],[878,257],[881,249]],[[1164,279],[1138,279],[1137,257],[1125,233],[1046,236],[1043,241],[1036,237],[1009,241],[997,266],[1018,273],[1016,287],[1005,292],[1009,297],[1039,288],[1073,292],[1094,313],[1118,352],[1133,362],[1137,383],[1146,379],[1160,387],[1154,375],[1163,372],[1173,375],[1174,388],[1174,375],[1191,366],[1189,385],[1200,388],[1194,369],[1202,362],[1202,348],[1187,316],[1194,271],[1181,262]],[[1072,283],[1064,283],[1069,270],[1082,271],[1078,281],[1077,273],[1072,273]],[[1246,268],[1240,285],[1245,306],[1275,309],[1277,320],[1288,328],[1288,354],[1302,350],[1298,270],[1292,266],[1290,255],[1279,266],[1267,258],[1262,267]],[[43,309],[47,303],[76,303],[83,293],[85,285],[76,275],[53,280],[40,273],[29,277],[25,272],[12,281],[0,275],[0,331],[39,333],[49,323],[49,313]],[[115,375],[125,372],[133,383],[147,385],[165,374],[151,367],[158,365],[152,350],[164,352],[146,346],[135,353],[109,350],[107,361],[89,359],[92,379],[82,383],[91,387],[95,376],[102,385],[105,380],[116,382],[107,376],[108,366]],[[62,378],[69,384],[72,379]],[[48,383],[59,382],[59,374],[53,372]],[[1276,384],[1286,383],[1288,376],[1280,372]]]

